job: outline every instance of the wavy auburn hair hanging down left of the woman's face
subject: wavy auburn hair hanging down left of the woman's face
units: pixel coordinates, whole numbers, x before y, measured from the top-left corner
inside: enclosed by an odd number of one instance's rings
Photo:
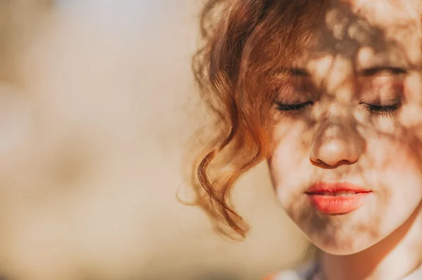
[[[271,154],[267,132],[271,73],[298,58],[321,22],[324,0],[210,0],[203,7],[203,48],[193,58],[199,93],[217,132],[198,163],[198,204],[242,236],[248,227],[229,203],[234,182]]]

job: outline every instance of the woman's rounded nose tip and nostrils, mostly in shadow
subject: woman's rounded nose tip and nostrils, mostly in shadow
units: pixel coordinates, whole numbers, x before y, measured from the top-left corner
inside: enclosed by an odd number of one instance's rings
[[[362,153],[362,136],[350,126],[325,124],[314,135],[310,160],[321,168],[354,164]]]

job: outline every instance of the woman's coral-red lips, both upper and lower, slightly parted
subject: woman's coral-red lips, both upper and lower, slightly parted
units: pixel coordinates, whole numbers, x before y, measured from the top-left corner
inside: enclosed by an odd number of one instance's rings
[[[356,193],[335,196],[334,192]],[[347,214],[357,210],[371,193],[371,189],[350,182],[317,182],[305,192],[309,196],[312,206],[319,212],[328,215]]]

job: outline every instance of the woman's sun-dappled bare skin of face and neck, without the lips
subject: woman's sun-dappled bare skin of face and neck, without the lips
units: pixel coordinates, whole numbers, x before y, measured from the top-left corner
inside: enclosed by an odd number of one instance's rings
[[[333,1],[327,26],[316,29],[307,61],[299,63],[309,72],[301,79],[318,88],[309,95],[314,104],[273,112],[271,177],[290,217],[326,252],[329,280],[400,279],[422,261],[412,253],[422,252],[421,10],[399,3]],[[399,70],[361,72],[370,67]],[[363,109],[379,102],[402,105],[385,116]],[[352,213],[325,215],[304,194],[321,180],[373,193]]]

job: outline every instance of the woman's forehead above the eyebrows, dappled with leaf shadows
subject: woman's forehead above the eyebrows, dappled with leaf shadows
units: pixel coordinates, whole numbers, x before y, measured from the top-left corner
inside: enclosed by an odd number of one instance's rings
[[[301,58],[308,62],[335,55],[357,67],[418,65],[421,5],[414,0],[331,0],[308,48]]]

